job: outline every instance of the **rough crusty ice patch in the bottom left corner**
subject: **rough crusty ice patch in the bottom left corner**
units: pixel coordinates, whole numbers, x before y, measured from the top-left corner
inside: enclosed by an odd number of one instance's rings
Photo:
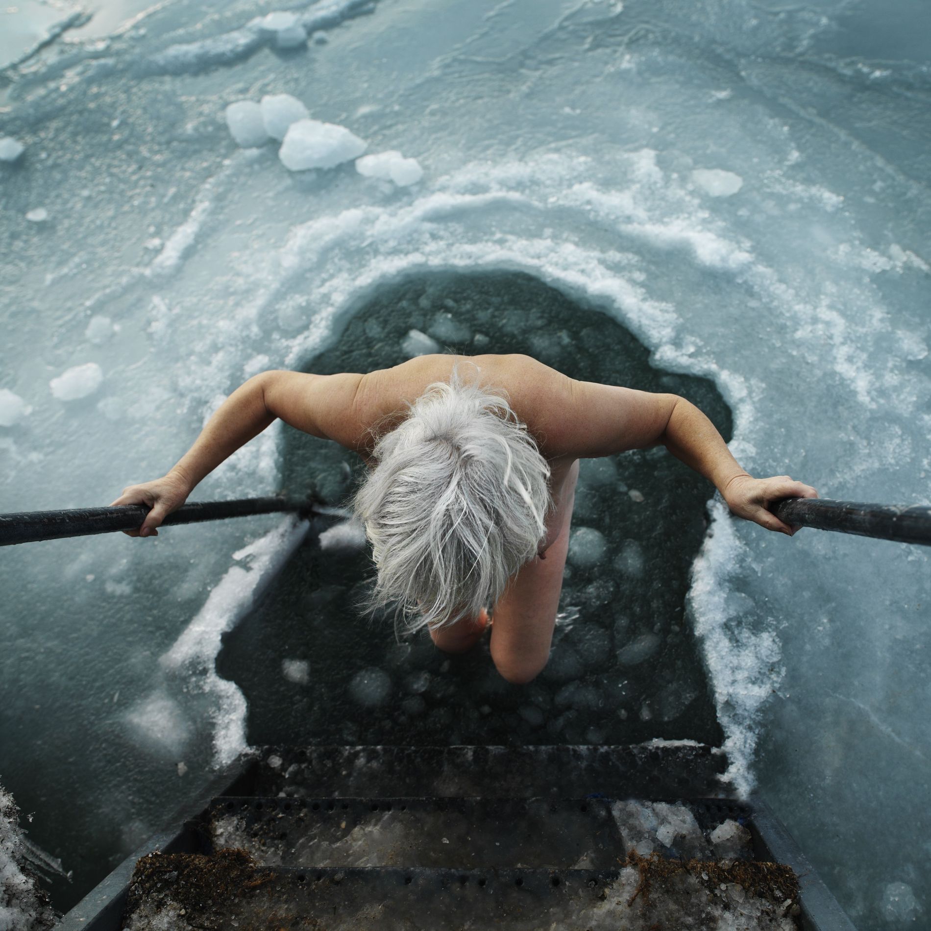
[[[47,931],[56,923],[47,893],[27,867],[27,853],[20,811],[0,786],[0,928],[4,931]]]

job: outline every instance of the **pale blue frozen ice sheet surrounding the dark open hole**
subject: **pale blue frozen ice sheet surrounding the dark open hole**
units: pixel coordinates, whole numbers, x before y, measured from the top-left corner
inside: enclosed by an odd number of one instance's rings
[[[492,19],[481,19],[492,7]],[[448,15],[461,27],[453,47],[425,22],[401,28],[386,5],[348,19],[356,8],[295,7],[309,33],[325,29],[331,39],[308,49],[317,57],[312,80],[305,62],[282,57],[270,67],[254,8],[228,4],[207,22],[201,8],[174,4],[170,24],[168,11],[153,8],[142,29],[115,36],[105,61],[72,46],[62,81],[57,65],[47,68],[52,45],[36,55],[28,80],[7,89],[4,131],[28,149],[0,165],[10,172],[0,179],[10,208],[0,224],[9,264],[0,277],[0,353],[3,385],[33,408],[0,438],[9,509],[106,503],[128,473],[142,480],[163,470],[258,349],[272,366],[300,365],[354,301],[386,280],[502,265],[597,302],[654,350],[657,366],[707,372],[735,411],[732,449],[751,471],[788,471],[823,496],[926,503],[931,334],[916,310],[926,304],[928,273],[927,113],[917,102],[931,34],[919,28],[923,10],[832,0],[817,15],[756,8],[751,27],[747,7],[732,3],[683,14],[663,0],[623,8],[453,2]],[[639,28],[644,16],[648,29]],[[359,47],[371,54],[360,59]],[[528,62],[531,94],[519,81]],[[298,196],[289,185],[311,179],[276,178],[251,153],[231,157],[214,135],[216,115],[252,87],[299,94],[314,101],[315,115],[347,123],[351,101],[364,111],[351,126],[373,148],[415,151],[438,166],[437,177],[422,192],[394,192],[397,200],[379,199],[373,184],[351,195],[339,184],[305,187]],[[132,99],[115,138],[78,120],[90,88],[111,110]],[[46,160],[33,157],[43,151]],[[709,196],[694,169],[730,170],[743,186]],[[54,203],[54,223],[28,227],[25,213],[42,203]],[[244,238],[239,221],[250,208]],[[173,245],[150,264],[145,243],[155,239]],[[291,329],[279,329],[293,295],[304,303],[286,315]],[[146,329],[154,296],[178,309],[167,318],[174,325],[157,333]],[[82,331],[97,312],[124,326],[90,357]],[[541,338],[558,342],[559,330]],[[27,364],[26,347],[36,344],[54,347],[47,374]],[[209,364],[192,369],[192,352]],[[65,416],[47,380],[88,358],[100,362],[107,385]],[[274,492],[276,450],[271,431],[218,470],[204,495]],[[105,734],[105,716],[98,724],[82,713],[88,702],[103,707],[101,664],[118,676],[127,655],[151,656],[152,637],[170,642],[230,554],[269,526],[260,524],[175,533],[171,548],[165,535],[145,549],[88,538],[80,549],[49,544],[28,560],[4,553],[14,609],[6,623],[34,617],[35,593],[43,599],[42,624],[16,627],[21,653],[3,658],[22,720],[37,732],[45,726],[32,710],[41,681],[74,715],[72,732]],[[918,774],[931,741],[926,717],[914,713],[928,698],[919,659],[928,648],[926,556],[808,531],[776,541],[726,512],[712,526],[689,623],[708,658],[732,775],[760,783],[856,924],[895,926],[884,902],[899,882],[926,914],[924,863],[893,840],[921,833],[912,812],[929,808]],[[78,588],[61,569],[73,565],[83,567]],[[151,581],[155,568],[180,580],[168,596]],[[126,576],[133,594],[107,600],[104,584]],[[50,679],[48,666],[29,657],[56,639],[86,646],[57,657],[62,674]],[[117,709],[152,684],[144,658],[137,662]],[[902,689],[913,697],[907,707],[896,698]],[[207,708],[202,714],[209,722]],[[4,746],[18,747],[16,739],[4,732]],[[44,746],[53,753],[50,740]],[[7,784],[31,799],[17,765]],[[47,767],[46,801],[27,803],[34,830],[52,816],[54,774],[65,769]],[[85,787],[69,787],[109,800],[103,825],[126,794],[120,771],[86,760]],[[142,761],[133,771],[145,771]],[[155,830],[171,803],[152,789],[140,809],[150,805],[149,815],[124,814],[151,818]],[[858,813],[857,843],[841,843],[831,828],[843,810]]]

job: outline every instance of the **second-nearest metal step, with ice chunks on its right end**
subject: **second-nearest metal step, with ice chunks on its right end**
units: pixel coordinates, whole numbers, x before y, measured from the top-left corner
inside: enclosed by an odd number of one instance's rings
[[[749,826],[749,807],[716,799],[220,797],[206,830],[214,850],[240,848],[275,866],[607,869],[630,848],[754,858],[749,830],[739,831],[742,844],[712,841],[729,819]],[[644,846],[651,825],[668,843],[651,836]]]

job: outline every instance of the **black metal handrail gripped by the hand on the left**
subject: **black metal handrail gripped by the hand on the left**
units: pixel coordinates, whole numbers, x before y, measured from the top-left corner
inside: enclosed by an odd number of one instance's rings
[[[332,509],[331,509],[332,510]],[[189,502],[173,511],[161,526],[199,523],[201,520],[244,518],[253,514],[294,512],[302,517],[327,513],[317,501],[293,501],[288,498],[239,498],[235,501]],[[61,540],[68,536],[89,536],[94,533],[115,533],[137,530],[149,513],[144,505],[117,507],[81,507],[67,511],[31,511],[21,514],[0,514],[0,546],[36,543],[40,540]]]

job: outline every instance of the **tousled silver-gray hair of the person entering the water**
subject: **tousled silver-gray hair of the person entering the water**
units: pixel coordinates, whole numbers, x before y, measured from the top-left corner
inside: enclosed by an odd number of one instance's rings
[[[353,506],[378,570],[368,606],[437,629],[491,608],[536,556],[549,466],[503,392],[455,368],[409,408],[377,440]]]

